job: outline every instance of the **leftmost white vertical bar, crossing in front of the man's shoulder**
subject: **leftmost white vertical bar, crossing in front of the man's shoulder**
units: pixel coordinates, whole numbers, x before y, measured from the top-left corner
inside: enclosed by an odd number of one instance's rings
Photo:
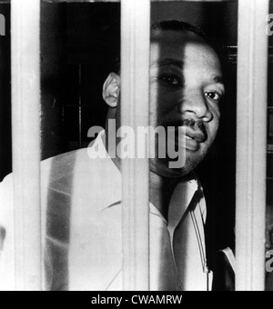
[[[40,1],[12,0],[15,289],[42,289]]]

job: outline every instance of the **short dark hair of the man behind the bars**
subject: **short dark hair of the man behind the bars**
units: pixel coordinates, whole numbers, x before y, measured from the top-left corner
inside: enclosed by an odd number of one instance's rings
[[[182,21],[165,20],[153,23],[151,25],[151,36],[153,36],[157,31],[191,32],[202,38],[209,45],[205,33],[200,28]],[[120,73],[120,56],[116,59],[116,73]]]

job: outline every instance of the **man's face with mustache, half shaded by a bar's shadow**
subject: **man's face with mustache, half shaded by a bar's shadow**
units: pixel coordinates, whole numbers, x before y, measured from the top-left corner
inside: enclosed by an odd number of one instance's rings
[[[187,136],[183,168],[170,169],[169,158],[156,155],[150,169],[164,177],[181,177],[202,161],[216,138],[225,93],[221,66],[201,38],[177,31],[152,35],[150,65],[150,125],[183,127]]]

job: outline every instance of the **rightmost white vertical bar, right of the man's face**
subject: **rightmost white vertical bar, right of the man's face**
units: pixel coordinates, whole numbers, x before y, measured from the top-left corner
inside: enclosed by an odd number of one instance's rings
[[[238,291],[265,288],[268,0],[238,2]]]

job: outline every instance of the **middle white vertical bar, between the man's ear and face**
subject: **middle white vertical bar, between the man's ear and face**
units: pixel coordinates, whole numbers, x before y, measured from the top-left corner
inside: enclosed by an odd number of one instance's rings
[[[150,0],[121,1],[121,120],[149,124]],[[149,165],[123,160],[123,287],[149,289]]]

